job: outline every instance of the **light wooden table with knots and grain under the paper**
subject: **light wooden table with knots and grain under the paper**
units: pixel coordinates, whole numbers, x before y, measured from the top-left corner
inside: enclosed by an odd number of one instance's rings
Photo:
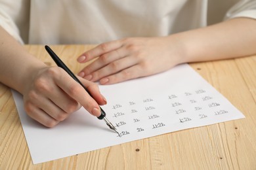
[[[77,56],[93,46],[52,47],[78,73]],[[54,65],[43,46],[25,48]],[[0,169],[256,169],[256,56],[190,65],[246,118],[33,165],[11,90],[0,84]]]

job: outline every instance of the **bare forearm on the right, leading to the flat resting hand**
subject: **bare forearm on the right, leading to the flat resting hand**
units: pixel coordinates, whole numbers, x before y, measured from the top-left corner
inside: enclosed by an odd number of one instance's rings
[[[181,63],[250,56],[256,54],[256,20],[235,18],[168,38],[182,44]]]

